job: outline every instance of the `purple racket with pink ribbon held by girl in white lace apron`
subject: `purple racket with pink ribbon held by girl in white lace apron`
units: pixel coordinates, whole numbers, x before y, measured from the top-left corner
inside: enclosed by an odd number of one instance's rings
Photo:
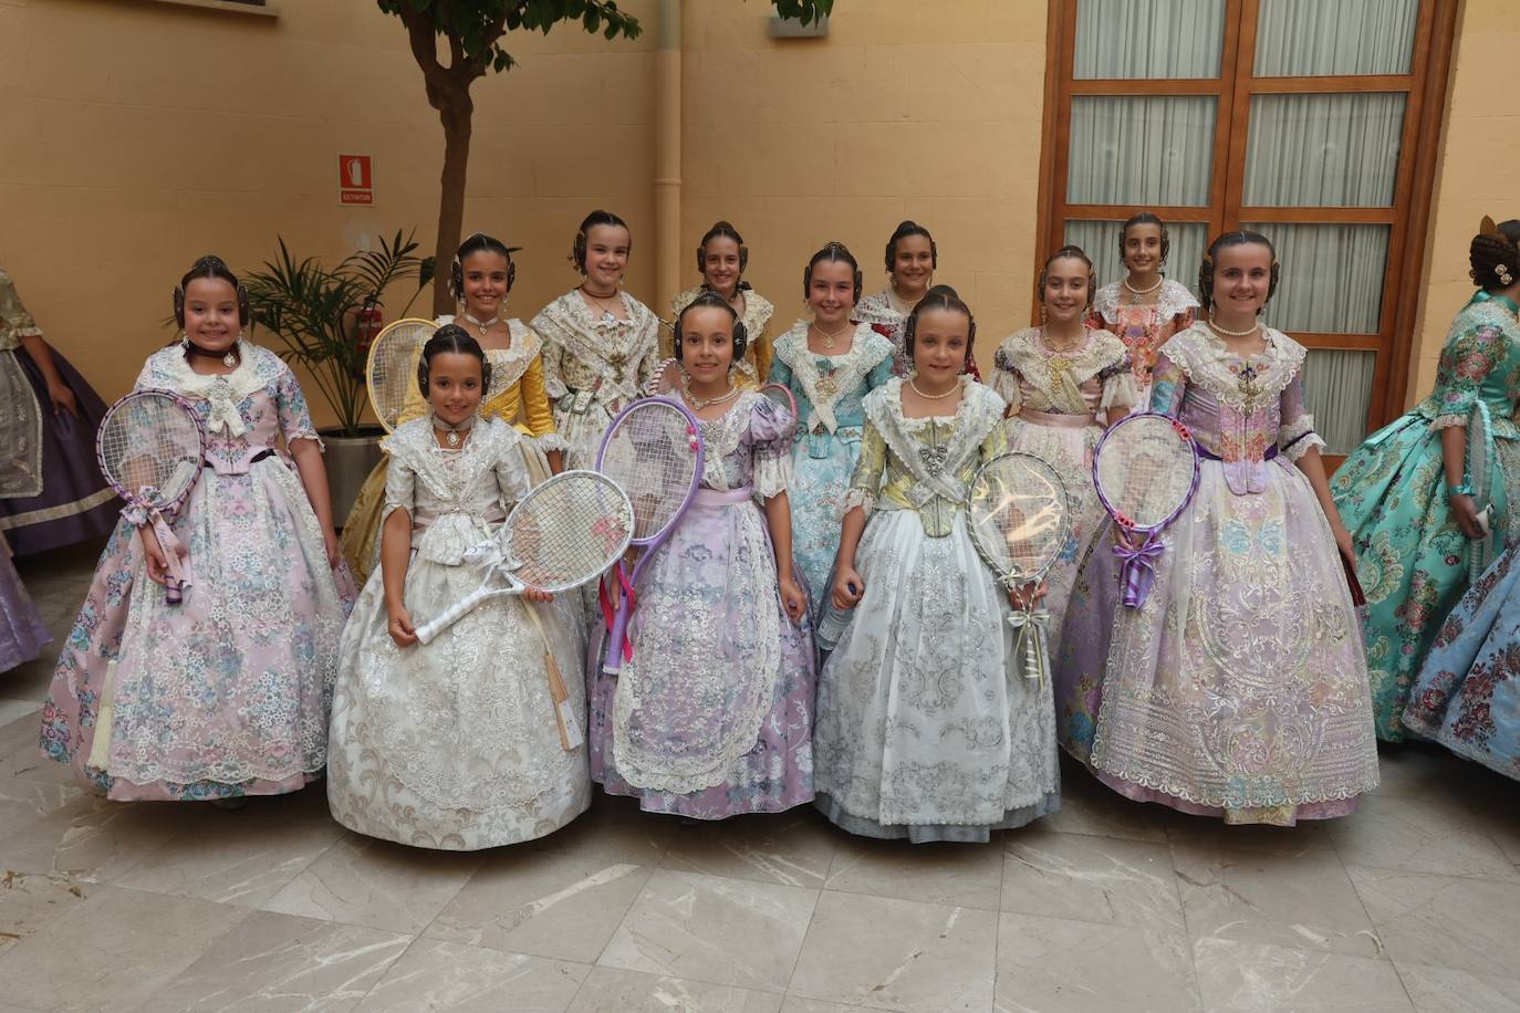
[[[616,674],[634,655],[628,620],[637,607],[638,577],[681,522],[702,481],[702,428],[684,406],[669,398],[643,398],[613,419],[596,453],[596,469],[628,492],[634,504],[631,545],[638,550],[632,577],[622,563],[613,568],[620,586],[617,607],[605,586],[600,595],[608,629],[603,670]]]

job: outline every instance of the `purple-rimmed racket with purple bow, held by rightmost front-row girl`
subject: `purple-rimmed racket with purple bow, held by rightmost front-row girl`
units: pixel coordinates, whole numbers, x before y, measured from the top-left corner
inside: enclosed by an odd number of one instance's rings
[[[1170,415],[1137,412],[1116,422],[1093,451],[1093,486],[1114,522],[1128,535],[1114,554],[1123,603],[1145,604],[1155,580],[1161,532],[1175,521],[1198,489],[1193,434]]]

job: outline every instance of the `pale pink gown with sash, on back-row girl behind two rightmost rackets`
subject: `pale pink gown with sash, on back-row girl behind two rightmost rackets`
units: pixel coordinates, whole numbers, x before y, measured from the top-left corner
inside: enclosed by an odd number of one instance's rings
[[[1129,355],[1108,331],[1087,328],[1081,345],[1058,352],[1041,328],[1029,328],[999,345],[993,363],[993,390],[1008,401],[1009,448],[1044,459],[1066,478],[1072,538],[1046,577],[1044,598],[1055,655],[1081,550],[1108,516],[1093,492],[1093,448],[1104,437],[1108,409],[1134,404]]]

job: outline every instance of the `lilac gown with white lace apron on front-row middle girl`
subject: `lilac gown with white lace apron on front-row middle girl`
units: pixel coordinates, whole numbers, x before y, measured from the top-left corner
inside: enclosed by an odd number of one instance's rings
[[[591,779],[699,820],[813,799],[812,630],[781,607],[763,503],[790,498],[793,421],[743,390],[704,421],[702,484],[640,576],[622,674],[591,664]],[[596,638],[593,638],[596,639]]]

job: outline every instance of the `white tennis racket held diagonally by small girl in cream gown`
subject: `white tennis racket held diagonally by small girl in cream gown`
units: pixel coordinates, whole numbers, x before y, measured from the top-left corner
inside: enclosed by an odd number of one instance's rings
[[[634,507],[617,483],[594,471],[564,471],[517,501],[500,532],[468,550],[485,565],[479,588],[416,630],[429,644],[461,617],[492,598],[529,588],[559,594],[594,580],[626,550]]]

